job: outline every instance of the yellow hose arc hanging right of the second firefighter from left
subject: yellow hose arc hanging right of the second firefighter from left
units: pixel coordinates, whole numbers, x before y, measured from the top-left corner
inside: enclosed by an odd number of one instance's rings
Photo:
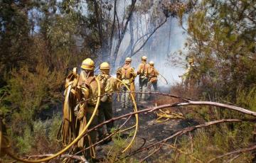
[[[115,78],[115,79],[117,79],[117,78]],[[131,92],[131,89],[129,89],[129,86],[127,86],[127,84],[125,84],[125,83],[124,83],[122,80],[120,80],[120,79],[117,79],[117,81],[120,81],[122,84],[124,84],[124,86],[125,86],[125,87],[127,88],[127,90],[130,92],[130,95],[131,95],[131,98],[132,98],[132,102],[133,102],[133,104],[134,104],[134,111],[138,111],[138,110],[137,110],[137,103],[136,103],[136,101],[135,101],[135,99],[134,99],[134,96],[133,96],[133,94],[132,94],[132,92]],[[136,137],[136,135],[137,135],[137,131],[138,131],[138,127],[139,127],[139,116],[138,116],[138,114],[135,114],[135,118],[136,118],[136,124],[135,124],[134,136],[132,137],[131,142],[129,142],[129,145],[127,145],[127,147],[126,147],[122,152],[127,151],[127,150],[129,149],[129,147],[132,146],[132,143],[134,142],[135,137]],[[134,128],[134,126],[133,126],[132,128]]]

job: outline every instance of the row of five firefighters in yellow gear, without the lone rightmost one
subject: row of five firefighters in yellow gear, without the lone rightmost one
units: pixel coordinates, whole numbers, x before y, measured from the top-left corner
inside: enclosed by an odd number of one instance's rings
[[[124,65],[117,69],[117,79],[110,75],[110,64],[102,62],[100,64],[100,74],[95,75],[95,62],[90,58],[82,61],[81,72],[74,69],[73,73],[69,74],[65,84],[65,103],[63,106],[63,124],[62,124],[62,140],[64,145],[68,145],[74,137],[77,137],[82,129],[85,128],[87,120],[90,120],[92,113],[95,111],[97,104],[98,90],[100,86],[100,106],[97,109],[95,118],[90,123],[90,128],[110,120],[113,116],[112,110],[112,94],[121,92],[122,108],[132,108],[131,95],[135,92],[134,80],[139,75],[139,91],[146,92],[154,87],[157,91],[157,77],[159,72],[154,68],[154,62],[146,62],[146,56],[142,57],[142,62],[139,64],[137,72],[131,66],[132,59],[127,57]],[[98,81],[98,83],[97,83]],[[100,84],[99,84],[100,83]],[[139,101],[144,103],[146,100],[145,94],[139,94]],[[79,104],[77,104],[79,103]],[[75,124],[73,124],[75,123]],[[107,132],[104,127],[92,130],[85,137],[78,141],[75,151],[85,149],[92,146],[97,139],[102,140],[111,133],[114,127],[113,121],[106,124]],[[95,147],[84,152],[87,159],[95,158]]]

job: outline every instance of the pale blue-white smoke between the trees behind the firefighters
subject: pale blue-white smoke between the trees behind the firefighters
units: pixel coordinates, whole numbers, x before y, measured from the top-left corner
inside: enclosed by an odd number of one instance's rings
[[[162,3],[166,6],[169,5],[168,1]],[[132,57],[132,67],[137,69],[141,57],[145,55],[148,57],[147,62],[153,61],[155,63],[154,66],[166,78],[169,85],[181,81],[178,75],[184,72],[183,64],[181,64],[184,60],[182,56],[178,55],[178,51],[183,50],[186,41],[187,17],[186,15],[182,18],[164,15],[163,4],[160,1],[137,1],[135,5],[137,9],[130,16],[114,62],[112,62],[111,57],[102,57],[97,59],[98,64],[100,62],[111,62],[112,67],[117,69],[122,67],[126,57]],[[131,1],[117,1],[116,5],[117,18],[122,20],[125,12],[127,12],[126,6],[131,5]],[[83,13],[87,14],[86,7]],[[110,18],[113,17],[114,15],[111,12]],[[181,22],[184,22],[182,26]],[[118,39],[115,38],[110,41],[113,45],[110,50],[111,56],[114,53],[114,47],[117,45]],[[109,56],[107,52],[103,55]],[[172,58],[176,58],[176,60],[171,60]],[[99,69],[97,69],[97,72],[99,72]],[[112,75],[114,76],[113,69]],[[159,86],[163,84],[165,85],[165,82],[159,80]]]

